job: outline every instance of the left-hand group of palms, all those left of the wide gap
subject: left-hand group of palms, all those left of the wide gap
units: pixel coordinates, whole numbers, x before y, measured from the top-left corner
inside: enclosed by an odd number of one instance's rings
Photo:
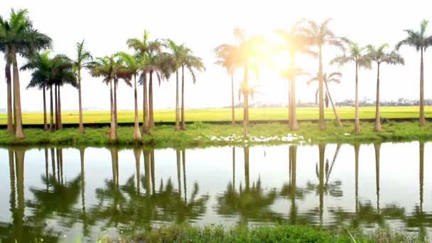
[[[77,43],[75,59],[65,55],[50,57],[48,50],[52,48],[52,40],[45,34],[33,28],[28,18],[28,11],[11,11],[9,20],[0,18],[0,50],[6,59],[6,82],[8,84],[8,123],[7,130],[15,133],[16,138],[24,138],[21,119],[21,103],[19,95],[19,77],[16,55],[26,58],[27,63],[21,70],[31,70],[31,81],[27,88],[38,87],[43,90],[43,117],[44,129],[54,131],[62,129],[60,87],[72,85],[78,90],[80,133],[85,132],[82,121],[82,70],[90,70],[94,77],[103,77],[103,82],[110,85],[111,100],[111,128],[110,139],[117,138],[117,87],[119,80],[126,85],[134,83],[134,139],[141,139],[141,132],[148,134],[154,126],[153,114],[153,75],[159,84],[161,80],[168,80],[175,73],[176,99],[175,99],[175,130],[185,130],[185,71],[189,71],[193,82],[196,82],[195,72],[205,70],[201,58],[194,55],[193,50],[186,45],[178,45],[171,39],[156,39],[151,41],[148,32],[144,31],[142,39],[130,38],[126,41],[134,53],[117,52],[102,58],[93,58],[85,49],[84,40]],[[13,95],[11,92],[11,65],[13,65]],[[181,69],[181,70],[180,70]],[[179,101],[179,72],[181,71],[181,117]],[[144,116],[143,129],[139,131],[137,77],[143,85]],[[148,77],[148,84],[147,84]],[[45,91],[50,90],[50,124],[46,116]],[[54,102],[53,102],[54,90]],[[14,108],[12,109],[12,97]],[[53,107],[55,103],[55,108]],[[55,112],[54,112],[55,109]],[[55,118],[54,118],[55,117]],[[14,126],[15,125],[15,126]]]

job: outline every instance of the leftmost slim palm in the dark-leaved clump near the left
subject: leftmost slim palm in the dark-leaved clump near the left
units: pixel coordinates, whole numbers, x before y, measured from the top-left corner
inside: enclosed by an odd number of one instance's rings
[[[47,85],[50,78],[51,60],[49,55],[50,53],[48,51],[38,53],[21,67],[21,70],[34,70],[26,89],[38,87],[38,89],[43,91],[43,129],[45,130],[48,130],[45,89],[48,87]]]

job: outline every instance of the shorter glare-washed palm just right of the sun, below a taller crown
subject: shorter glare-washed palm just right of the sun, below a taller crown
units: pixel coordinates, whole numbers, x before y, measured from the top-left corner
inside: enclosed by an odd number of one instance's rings
[[[289,99],[288,120],[289,120],[289,127],[293,131],[298,129],[298,123],[296,119],[296,99],[295,99],[296,86],[294,85],[294,82],[296,82],[296,78],[301,75],[308,75],[308,73],[303,72],[301,68],[291,67],[286,70],[281,70],[281,77],[288,80],[288,83],[291,86],[291,89],[288,90],[288,99]]]

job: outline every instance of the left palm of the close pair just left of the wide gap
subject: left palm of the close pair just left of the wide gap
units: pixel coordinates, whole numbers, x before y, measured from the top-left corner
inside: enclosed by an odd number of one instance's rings
[[[180,130],[180,105],[178,95],[178,69],[182,67],[185,56],[185,45],[177,45],[173,40],[168,39],[166,45],[171,50],[171,67],[175,71],[175,131]]]

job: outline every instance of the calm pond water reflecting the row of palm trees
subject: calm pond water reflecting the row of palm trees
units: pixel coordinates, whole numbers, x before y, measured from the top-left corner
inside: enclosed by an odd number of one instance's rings
[[[432,143],[0,148],[0,239],[191,222],[432,232]]]

